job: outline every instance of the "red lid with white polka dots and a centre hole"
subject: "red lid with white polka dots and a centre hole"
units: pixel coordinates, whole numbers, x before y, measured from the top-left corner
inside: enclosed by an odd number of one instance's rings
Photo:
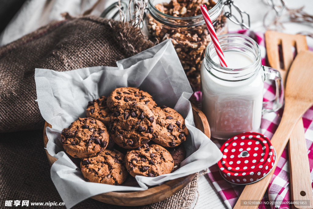
[[[224,179],[234,184],[251,184],[269,173],[275,163],[275,149],[260,133],[245,132],[228,139],[220,148],[218,167]]]

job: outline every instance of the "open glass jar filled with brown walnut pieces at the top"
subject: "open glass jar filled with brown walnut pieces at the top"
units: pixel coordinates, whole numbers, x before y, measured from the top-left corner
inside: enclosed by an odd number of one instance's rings
[[[205,4],[217,35],[228,32],[222,0],[150,0],[146,25],[151,38],[172,39],[179,60],[193,87],[200,90],[200,66],[211,41],[200,6]]]

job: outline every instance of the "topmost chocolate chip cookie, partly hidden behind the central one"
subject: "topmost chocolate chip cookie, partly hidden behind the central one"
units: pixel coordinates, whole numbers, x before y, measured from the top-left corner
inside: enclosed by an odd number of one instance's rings
[[[106,101],[112,112],[115,112],[118,107],[126,102],[140,102],[149,107],[149,109],[156,106],[150,94],[135,87],[116,88],[111,92]]]

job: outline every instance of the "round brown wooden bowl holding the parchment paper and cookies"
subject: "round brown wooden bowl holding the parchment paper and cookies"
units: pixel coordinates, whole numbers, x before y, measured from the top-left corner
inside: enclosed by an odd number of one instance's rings
[[[193,119],[196,127],[210,138],[211,132],[208,120],[196,106],[192,105]],[[50,127],[49,123],[44,125],[44,147],[47,147],[48,137],[46,135],[46,127]],[[46,150],[50,166],[57,160],[52,157]],[[178,179],[167,181],[166,183],[149,188],[145,191],[127,191],[127,192],[107,192],[91,198],[121,206],[141,206],[148,205],[154,202],[159,202],[181,191],[187,186],[196,174],[187,175]]]

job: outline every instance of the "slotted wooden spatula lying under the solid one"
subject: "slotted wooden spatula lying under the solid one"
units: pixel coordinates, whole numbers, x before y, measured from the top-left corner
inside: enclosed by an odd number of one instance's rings
[[[278,69],[278,71],[280,71],[282,80],[285,84],[288,70],[293,61],[291,46],[294,46],[295,50],[298,52],[308,50],[305,36],[266,31],[265,41],[269,64],[271,67],[276,68]],[[284,69],[280,68],[278,44],[282,45],[282,58],[284,61]],[[288,148],[291,201],[310,200],[310,206],[301,206],[297,204],[295,204],[294,206],[299,209],[312,209],[313,195],[310,178],[310,165],[306,152],[307,149],[302,118],[299,119],[295,128],[292,130]]]

